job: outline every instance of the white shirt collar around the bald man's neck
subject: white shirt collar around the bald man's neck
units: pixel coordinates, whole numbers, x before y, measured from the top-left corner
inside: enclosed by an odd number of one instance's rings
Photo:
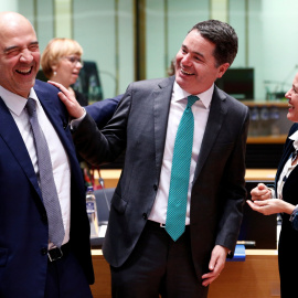
[[[6,103],[7,107],[17,116],[20,116],[26,105],[28,98],[24,98],[15,93],[12,93],[0,86],[0,97]],[[38,96],[33,88],[30,89],[29,97],[39,102]]]

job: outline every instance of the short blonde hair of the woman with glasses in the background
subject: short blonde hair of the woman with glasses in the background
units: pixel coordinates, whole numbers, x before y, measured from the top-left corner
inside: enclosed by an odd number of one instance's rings
[[[50,78],[53,75],[52,66],[57,64],[61,57],[68,55],[83,55],[83,49],[78,42],[71,39],[51,40],[41,56],[41,66],[44,75]]]

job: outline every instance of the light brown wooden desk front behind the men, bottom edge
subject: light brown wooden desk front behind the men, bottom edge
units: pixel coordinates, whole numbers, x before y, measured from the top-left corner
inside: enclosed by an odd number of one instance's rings
[[[102,251],[93,251],[94,298],[110,298],[110,273]],[[226,262],[209,298],[280,298],[277,251],[246,249],[244,262]],[[187,298],[187,297],[185,297]]]

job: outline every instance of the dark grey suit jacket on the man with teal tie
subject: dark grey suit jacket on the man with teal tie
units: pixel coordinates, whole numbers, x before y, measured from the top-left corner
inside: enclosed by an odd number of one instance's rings
[[[174,77],[132,83],[108,126],[97,130],[85,117],[74,132],[77,150],[93,164],[126,149],[111,200],[104,255],[121,266],[153,205],[162,163]],[[234,249],[245,198],[248,108],[217,87],[199,156],[191,194],[191,244],[198,277],[207,272],[214,245]]]

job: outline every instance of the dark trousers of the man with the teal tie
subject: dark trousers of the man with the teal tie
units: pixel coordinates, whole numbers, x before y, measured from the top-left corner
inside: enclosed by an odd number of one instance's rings
[[[205,298],[196,277],[190,230],[173,242],[163,227],[148,221],[128,260],[110,267],[114,298]]]

